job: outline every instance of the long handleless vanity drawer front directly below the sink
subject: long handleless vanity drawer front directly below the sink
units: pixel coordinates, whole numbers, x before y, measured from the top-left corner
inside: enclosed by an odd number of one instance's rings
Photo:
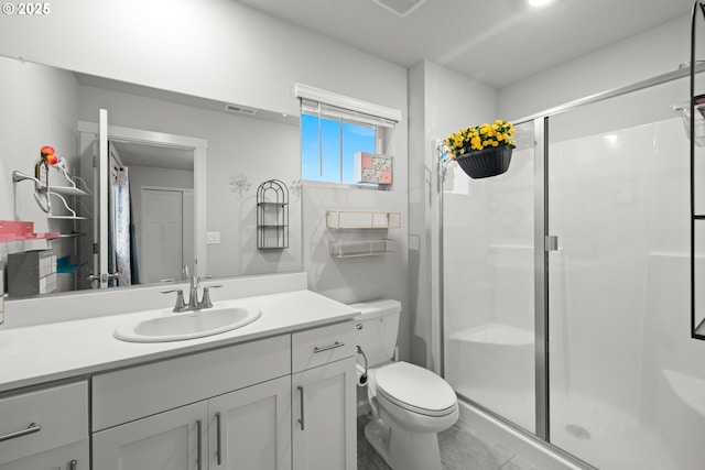
[[[289,335],[195,352],[93,378],[93,430],[291,373]]]

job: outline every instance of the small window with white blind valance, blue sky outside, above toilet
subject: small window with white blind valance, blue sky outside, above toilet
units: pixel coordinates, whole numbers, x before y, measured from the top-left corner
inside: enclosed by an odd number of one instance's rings
[[[401,112],[296,84],[301,99],[302,178],[357,184],[355,154],[384,153]]]

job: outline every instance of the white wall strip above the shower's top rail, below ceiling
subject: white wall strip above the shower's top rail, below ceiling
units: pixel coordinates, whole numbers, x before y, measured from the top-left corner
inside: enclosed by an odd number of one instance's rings
[[[690,15],[523,78],[499,91],[499,113],[521,119],[675,70],[690,62]]]

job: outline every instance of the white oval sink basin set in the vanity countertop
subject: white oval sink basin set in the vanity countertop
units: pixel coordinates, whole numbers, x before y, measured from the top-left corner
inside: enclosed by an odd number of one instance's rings
[[[241,328],[261,315],[259,308],[228,305],[178,314],[162,311],[120,325],[115,337],[131,342],[182,341]]]

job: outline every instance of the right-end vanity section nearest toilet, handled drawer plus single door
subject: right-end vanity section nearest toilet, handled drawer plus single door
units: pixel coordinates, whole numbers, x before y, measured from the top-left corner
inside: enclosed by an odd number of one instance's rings
[[[355,470],[355,327],[292,335],[293,470]]]

